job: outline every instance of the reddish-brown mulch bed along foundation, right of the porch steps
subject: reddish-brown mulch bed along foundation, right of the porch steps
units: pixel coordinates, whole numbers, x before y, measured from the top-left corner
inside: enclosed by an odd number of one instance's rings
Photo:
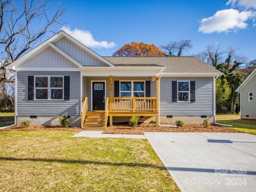
[[[203,124],[187,124],[181,127],[155,127],[155,124],[140,124],[138,127],[130,127],[128,124],[115,124],[107,127],[103,133],[108,134],[143,134],[144,132],[221,132],[221,133],[241,133],[241,131],[228,127],[210,125],[205,127]]]

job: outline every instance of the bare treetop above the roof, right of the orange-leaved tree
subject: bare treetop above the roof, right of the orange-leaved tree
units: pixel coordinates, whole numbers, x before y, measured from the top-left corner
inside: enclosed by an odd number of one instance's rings
[[[161,45],[160,47],[170,56],[181,57],[183,51],[188,51],[193,47],[193,45],[191,40],[180,40],[178,42],[170,42],[166,45]]]

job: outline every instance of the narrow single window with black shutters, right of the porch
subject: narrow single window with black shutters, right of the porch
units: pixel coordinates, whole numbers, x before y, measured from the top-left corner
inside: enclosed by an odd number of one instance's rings
[[[178,94],[178,102],[189,102],[189,89],[190,89],[189,81],[178,81],[177,86],[177,94]]]

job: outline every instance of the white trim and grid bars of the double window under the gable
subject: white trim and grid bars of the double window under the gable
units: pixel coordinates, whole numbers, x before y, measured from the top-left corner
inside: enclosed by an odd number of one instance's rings
[[[47,87],[36,87],[36,77],[47,77],[48,86]],[[51,77],[62,77],[62,87],[51,87]],[[48,99],[36,99],[36,89],[47,89]],[[51,99],[51,89],[62,89],[62,99]],[[64,76],[63,75],[35,75],[34,76],[34,100],[35,101],[63,101],[64,100]]]

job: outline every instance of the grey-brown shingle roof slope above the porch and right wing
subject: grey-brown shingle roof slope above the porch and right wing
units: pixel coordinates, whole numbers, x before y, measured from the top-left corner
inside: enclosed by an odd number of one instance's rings
[[[197,57],[103,57],[116,66],[160,65],[163,73],[220,73]]]

